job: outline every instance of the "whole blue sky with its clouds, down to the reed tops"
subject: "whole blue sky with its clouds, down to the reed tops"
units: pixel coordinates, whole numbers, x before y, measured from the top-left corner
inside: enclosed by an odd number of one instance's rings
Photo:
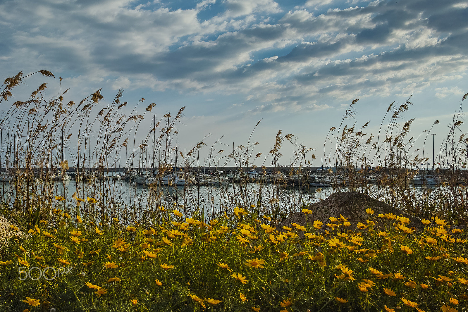
[[[375,134],[389,104],[412,95],[402,123],[415,118],[417,136],[439,120],[437,150],[468,93],[467,16],[467,0],[3,0],[3,77],[44,69],[56,79],[30,77],[0,109],[42,82],[56,95],[61,76],[66,101],[102,88],[104,105],[122,88],[129,107],[146,99],[139,112],[156,103],[158,120],[185,106],[173,142],[188,151],[203,140],[205,161],[215,142],[228,152],[251,136],[255,164],[268,165],[282,130],[321,166],[352,100],[345,124],[370,121]],[[283,144],[280,163],[293,148]]]

